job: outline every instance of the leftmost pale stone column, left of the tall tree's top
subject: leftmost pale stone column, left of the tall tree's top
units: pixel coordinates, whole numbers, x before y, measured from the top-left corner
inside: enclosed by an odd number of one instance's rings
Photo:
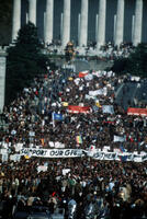
[[[20,28],[21,28],[21,0],[13,0],[12,42],[16,39],[18,32]]]

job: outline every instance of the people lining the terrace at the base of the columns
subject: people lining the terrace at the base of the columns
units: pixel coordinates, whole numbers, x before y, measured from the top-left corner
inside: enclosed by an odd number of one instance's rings
[[[75,44],[74,44],[75,45]],[[60,46],[59,42],[53,42],[53,44],[45,45],[47,54],[58,54],[65,55],[65,50]],[[122,43],[121,46],[115,46],[113,43],[109,42],[97,49],[97,44],[94,42],[89,42],[87,46],[79,47],[75,46],[76,57],[93,57],[99,60],[115,60],[118,58],[127,58],[131,53],[133,53],[135,47],[131,43]]]

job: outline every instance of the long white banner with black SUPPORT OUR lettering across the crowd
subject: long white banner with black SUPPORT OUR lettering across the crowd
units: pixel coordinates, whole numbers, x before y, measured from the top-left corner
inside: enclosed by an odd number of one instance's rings
[[[116,160],[116,161],[147,161],[147,153],[136,154],[129,152],[106,152],[94,149],[92,154],[91,150],[83,149],[34,149],[24,148],[20,150],[20,155],[38,157],[38,158],[81,158],[91,157],[95,160]]]

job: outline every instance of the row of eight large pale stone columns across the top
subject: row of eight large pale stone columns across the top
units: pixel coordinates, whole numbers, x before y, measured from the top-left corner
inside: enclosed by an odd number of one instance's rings
[[[78,19],[78,44],[79,46],[87,46],[88,42],[88,13],[89,1],[81,0],[81,12]],[[98,0],[99,15],[97,14],[95,31],[97,35],[97,48],[99,49],[105,44],[105,23],[106,23],[106,2],[109,0]],[[114,45],[120,46],[124,38],[124,8],[125,1],[117,0],[117,10],[114,24]],[[36,25],[36,3],[37,0],[29,0],[29,21]],[[136,0],[135,14],[133,23],[133,45],[137,46],[142,42],[142,26],[143,26],[143,0]],[[109,9],[108,9],[109,10]],[[70,41],[70,16],[71,16],[71,0],[64,0],[64,12],[61,22],[61,46],[65,47]],[[44,28],[44,42],[52,43],[54,31],[54,0],[46,0],[46,13],[45,13],[45,28]],[[18,36],[18,32],[21,27],[21,0],[13,0],[13,19],[12,19],[12,42]]]

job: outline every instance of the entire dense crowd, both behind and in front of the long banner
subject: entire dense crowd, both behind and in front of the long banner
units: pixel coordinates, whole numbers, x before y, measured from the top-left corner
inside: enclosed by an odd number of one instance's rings
[[[116,90],[125,81],[126,76],[112,71],[72,69],[36,77],[3,108],[7,126],[0,131],[1,150],[10,155],[22,148],[89,150],[93,146],[100,151],[123,148],[147,153],[147,117],[127,115],[115,102]],[[127,95],[127,83],[125,89]],[[84,218],[90,203],[98,218],[147,217],[146,162],[23,155],[12,161],[8,157],[0,165],[2,217],[11,218],[15,207],[32,205],[47,206],[50,212],[60,207],[67,214],[71,199],[77,203],[77,219]],[[38,171],[38,166],[46,169]]]

